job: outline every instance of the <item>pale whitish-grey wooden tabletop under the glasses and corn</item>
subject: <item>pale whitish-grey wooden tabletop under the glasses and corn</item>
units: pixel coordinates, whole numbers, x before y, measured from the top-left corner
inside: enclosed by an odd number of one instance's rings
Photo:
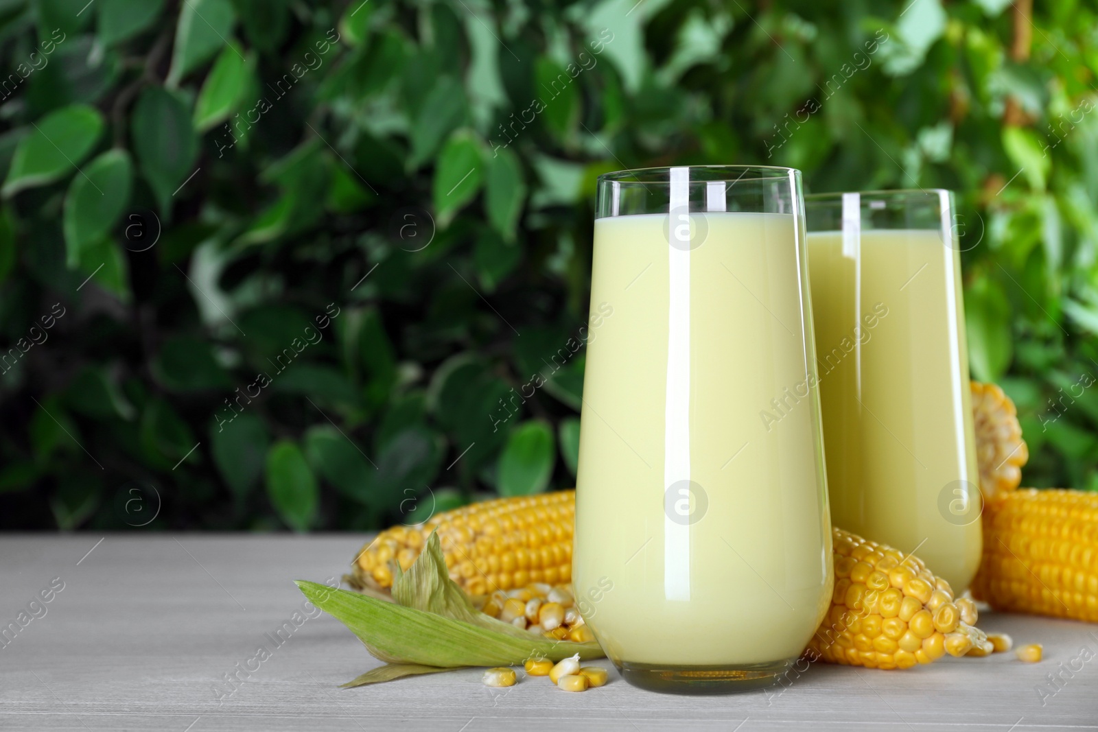
[[[610,683],[584,694],[541,678],[489,689],[473,669],[340,689],[378,664],[348,630],[302,615],[276,631],[303,612],[291,579],[338,577],[363,540],[0,537],[0,630],[25,623],[0,642],[0,730],[1098,730],[1098,626],[991,613],[985,630],[1041,642],[1045,660],[815,665],[789,688],[724,697],[641,691],[608,662]]]

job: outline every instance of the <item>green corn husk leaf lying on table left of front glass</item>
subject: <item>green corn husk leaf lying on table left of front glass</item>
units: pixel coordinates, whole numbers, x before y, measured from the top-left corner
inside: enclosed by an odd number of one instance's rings
[[[604,655],[594,641],[573,643],[538,637],[477,611],[450,579],[435,534],[407,572],[396,572],[396,603],[333,590],[314,582],[298,581],[296,585],[313,605],[347,626],[371,655],[390,664],[512,666],[530,656],[560,661],[576,653],[584,660]],[[381,677],[397,671],[378,672],[377,680],[386,680]]]

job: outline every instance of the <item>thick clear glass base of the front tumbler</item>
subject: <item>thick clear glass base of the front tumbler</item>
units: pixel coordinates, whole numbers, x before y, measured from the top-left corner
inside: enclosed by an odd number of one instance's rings
[[[621,678],[662,694],[736,694],[772,686],[796,658],[729,666],[675,666],[621,662]]]

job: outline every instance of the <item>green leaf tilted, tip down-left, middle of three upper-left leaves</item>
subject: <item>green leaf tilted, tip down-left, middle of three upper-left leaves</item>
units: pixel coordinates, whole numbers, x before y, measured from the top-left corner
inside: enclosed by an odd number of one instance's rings
[[[102,239],[130,203],[133,165],[130,154],[111,149],[75,176],[65,196],[65,250],[69,268],[80,262],[81,251]]]

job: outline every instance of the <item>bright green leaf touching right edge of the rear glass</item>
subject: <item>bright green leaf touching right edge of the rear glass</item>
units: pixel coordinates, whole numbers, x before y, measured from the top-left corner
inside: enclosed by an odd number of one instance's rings
[[[964,313],[973,378],[995,383],[1012,358],[1010,303],[998,283],[984,277],[965,291]]]

